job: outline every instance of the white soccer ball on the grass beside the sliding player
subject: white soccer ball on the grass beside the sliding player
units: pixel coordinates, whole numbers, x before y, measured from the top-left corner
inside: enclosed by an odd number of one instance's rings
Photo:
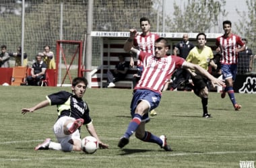
[[[81,149],[85,153],[92,154],[98,149],[98,140],[93,136],[86,136],[82,139]]]

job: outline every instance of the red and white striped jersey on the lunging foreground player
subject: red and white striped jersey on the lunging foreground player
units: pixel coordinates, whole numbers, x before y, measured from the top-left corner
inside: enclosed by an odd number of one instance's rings
[[[160,94],[172,73],[185,62],[183,58],[174,55],[156,58],[154,54],[138,52],[137,56],[143,62],[143,73],[134,89],[150,89]]]

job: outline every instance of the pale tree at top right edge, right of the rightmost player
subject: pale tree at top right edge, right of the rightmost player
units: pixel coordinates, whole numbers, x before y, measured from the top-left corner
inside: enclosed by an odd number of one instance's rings
[[[253,50],[253,54],[256,54],[256,1],[246,0],[247,3],[247,15],[245,11],[239,11],[236,9],[238,15],[238,23],[234,26],[237,28],[237,34],[240,34],[243,38],[247,38],[248,46]]]

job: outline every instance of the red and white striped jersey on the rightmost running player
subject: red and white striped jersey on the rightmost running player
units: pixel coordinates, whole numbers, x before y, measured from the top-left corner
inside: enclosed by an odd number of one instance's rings
[[[231,34],[230,37],[220,36],[216,38],[216,46],[220,47],[221,57],[220,63],[224,65],[237,64],[238,53],[235,49],[238,46],[244,46],[245,44],[241,38],[235,34]]]

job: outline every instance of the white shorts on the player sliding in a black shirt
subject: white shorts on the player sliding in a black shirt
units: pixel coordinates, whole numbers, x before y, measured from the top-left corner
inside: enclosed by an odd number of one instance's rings
[[[65,143],[71,139],[81,140],[79,130],[76,130],[75,132],[73,132],[73,134],[69,134],[69,135],[64,134],[63,126],[67,120],[75,121],[75,118],[63,116],[63,117],[59,118],[59,120],[57,120],[57,122],[55,122],[55,124],[53,126],[53,132],[54,132],[58,142]]]

